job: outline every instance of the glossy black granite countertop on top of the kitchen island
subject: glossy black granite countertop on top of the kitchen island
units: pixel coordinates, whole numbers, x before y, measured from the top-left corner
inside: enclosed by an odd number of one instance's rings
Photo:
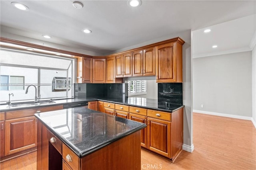
[[[146,127],[144,123],[84,107],[36,113],[35,116],[79,158]]]

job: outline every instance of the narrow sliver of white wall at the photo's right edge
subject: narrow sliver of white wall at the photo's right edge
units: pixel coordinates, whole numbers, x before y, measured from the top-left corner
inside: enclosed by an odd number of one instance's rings
[[[252,123],[256,127],[256,46],[252,50]]]

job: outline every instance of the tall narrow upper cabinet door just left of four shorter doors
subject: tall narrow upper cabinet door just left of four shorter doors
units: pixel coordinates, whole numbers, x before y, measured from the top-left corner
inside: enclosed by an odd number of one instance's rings
[[[115,82],[115,65],[116,59],[115,57],[109,57],[106,59],[106,83],[114,83]]]

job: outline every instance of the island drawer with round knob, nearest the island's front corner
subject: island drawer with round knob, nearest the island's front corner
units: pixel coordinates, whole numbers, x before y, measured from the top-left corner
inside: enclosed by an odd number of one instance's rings
[[[76,154],[70,150],[66,145],[62,143],[62,158],[73,170],[78,170],[79,158]]]

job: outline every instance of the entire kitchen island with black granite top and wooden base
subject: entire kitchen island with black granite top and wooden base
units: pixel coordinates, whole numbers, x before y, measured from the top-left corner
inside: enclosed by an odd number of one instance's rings
[[[35,114],[37,169],[140,169],[146,124],[84,107]]]

